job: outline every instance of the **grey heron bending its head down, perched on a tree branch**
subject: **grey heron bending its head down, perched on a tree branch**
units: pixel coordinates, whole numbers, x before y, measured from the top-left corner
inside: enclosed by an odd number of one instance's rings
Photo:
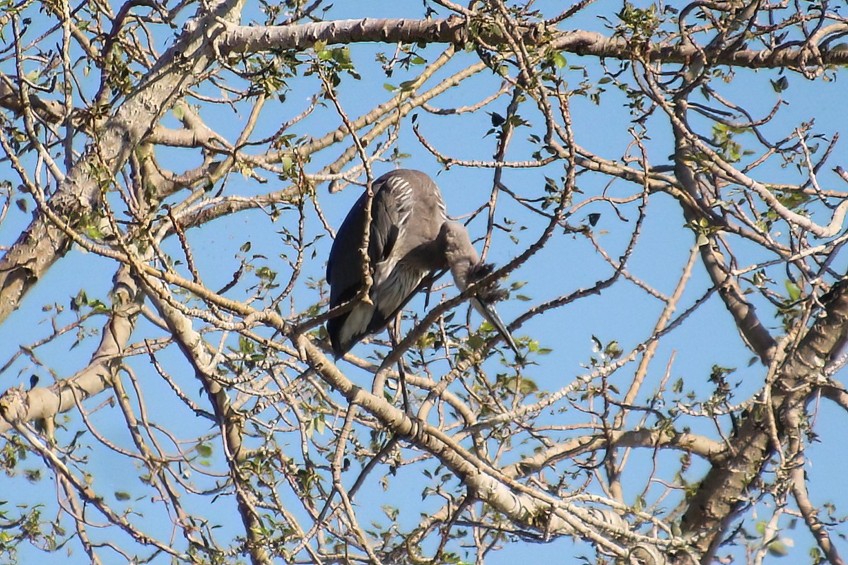
[[[480,261],[462,224],[448,220],[436,183],[421,171],[399,169],[383,174],[371,185],[371,230],[368,241],[369,268],[373,284],[371,303],[360,301],[346,313],[327,321],[332,350],[337,357],[348,352],[365,335],[382,330],[415,294],[428,275],[450,270],[456,286],[465,291],[471,283],[492,272]],[[330,284],[330,307],[359,293],[363,285],[360,254],[365,230],[362,195],[344,219],[326,263]],[[493,302],[505,296],[496,283],[485,285],[471,303],[503,335],[518,357],[516,342]]]

